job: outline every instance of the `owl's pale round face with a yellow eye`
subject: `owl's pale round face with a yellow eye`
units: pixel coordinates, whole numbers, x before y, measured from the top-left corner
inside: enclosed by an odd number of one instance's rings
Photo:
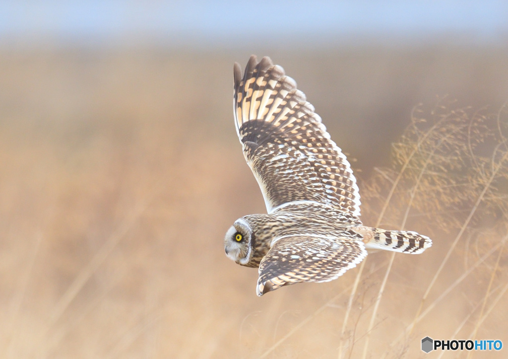
[[[254,232],[243,218],[237,219],[224,237],[226,255],[241,265],[248,265],[252,257]]]

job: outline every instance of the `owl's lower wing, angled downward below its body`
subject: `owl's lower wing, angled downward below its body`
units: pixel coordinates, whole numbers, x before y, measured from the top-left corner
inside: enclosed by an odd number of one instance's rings
[[[259,296],[284,285],[337,279],[367,255],[361,241],[339,236],[308,233],[275,241],[259,266]]]

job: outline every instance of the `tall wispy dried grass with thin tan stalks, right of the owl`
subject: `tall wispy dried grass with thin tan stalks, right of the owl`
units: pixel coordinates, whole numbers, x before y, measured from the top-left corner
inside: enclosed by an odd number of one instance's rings
[[[465,336],[468,337],[460,339],[474,340],[486,316],[507,290],[500,269],[508,257],[504,248],[508,238],[508,105],[493,114],[487,109],[450,110],[451,106],[453,103],[440,99],[430,110],[424,110],[422,105],[415,108],[410,125],[392,146],[391,166],[375,168],[373,175],[360,184],[364,223],[415,229],[438,238],[434,244],[446,241],[424,254],[440,250],[445,253],[437,257],[443,258],[434,267],[426,268],[423,295],[408,298],[418,303],[418,309],[414,318],[402,318],[406,327],[399,333],[384,331],[377,324],[382,321],[379,308],[393,263],[403,256],[390,256],[380,283],[379,278],[371,279],[364,274],[364,261],[348,297],[342,294],[341,298],[332,298],[347,303],[342,316],[339,357],[352,356],[355,343],[350,333],[353,331],[357,332],[356,337],[362,337],[363,357],[376,353],[369,346],[371,335],[391,343],[385,356],[403,355],[419,341],[414,336],[422,319],[446,303],[466,278],[477,276],[481,277],[479,283],[485,283],[477,287],[484,295],[477,303],[468,303],[473,308],[471,313],[464,320],[458,318],[462,323],[450,333],[453,339],[452,336],[465,333],[467,327],[469,332]],[[465,265],[460,274],[454,272],[457,262]],[[449,280],[442,278],[443,271],[457,274],[444,290],[435,285],[440,279]],[[362,286],[370,286],[372,281],[378,290],[371,298],[372,311],[368,315],[368,311],[356,308],[355,303]],[[323,307],[318,309],[321,310]],[[353,317],[357,319],[351,320]],[[366,322],[364,333],[358,333],[358,320]],[[284,336],[277,345],[288,337]]]

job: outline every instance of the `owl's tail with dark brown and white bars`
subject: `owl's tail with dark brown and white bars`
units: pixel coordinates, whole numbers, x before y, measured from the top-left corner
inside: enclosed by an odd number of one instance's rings
[[[385,251],[420,254],[432,246],[429,237],[417,232],[389,231],[364,226],[353,227],[352,229],[363,235],[363,242],[368,250],[384,249]]]

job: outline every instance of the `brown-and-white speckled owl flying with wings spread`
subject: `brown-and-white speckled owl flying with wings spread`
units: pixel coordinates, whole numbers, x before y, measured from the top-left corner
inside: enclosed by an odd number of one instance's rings
[[[236,220],[226,255],[259,268],[259,296],[284,285],[327,282],[360,263],[367,250],[418,254],[431,240],[411,231],[364,226],[350,163],[321,117],[269,57],[234,66],[234,120],[243,155],[267,214]]]

